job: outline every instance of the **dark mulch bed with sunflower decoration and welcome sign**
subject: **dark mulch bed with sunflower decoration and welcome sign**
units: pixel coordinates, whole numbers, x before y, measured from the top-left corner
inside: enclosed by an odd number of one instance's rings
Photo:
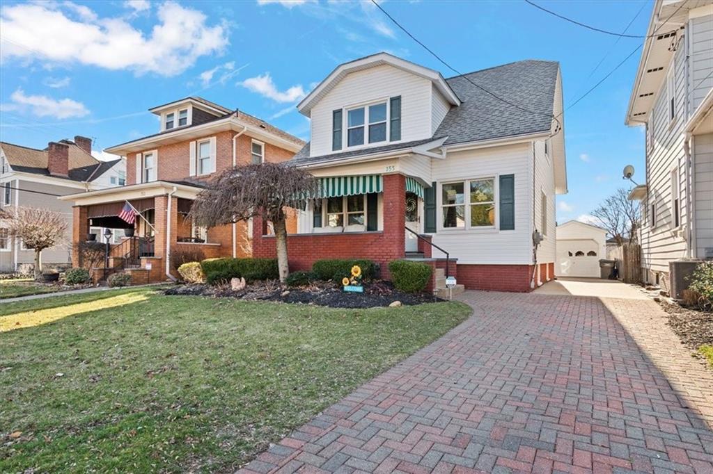
[[[257,282],[244,290],[231,290],[228,286],[178,285],[164,290],[166,295],[195,295],[211,297],[234,297],[247,301],[275,301],[343,308],[367,308],[389,306],[394,301],[402,305],[421,305],[427,302],[444,301],[429,293],[402,293],[385,281],[366,283],[364,293],[345,293],[333,283],[319,282],[300,288],[285,290],[278,282]]]

